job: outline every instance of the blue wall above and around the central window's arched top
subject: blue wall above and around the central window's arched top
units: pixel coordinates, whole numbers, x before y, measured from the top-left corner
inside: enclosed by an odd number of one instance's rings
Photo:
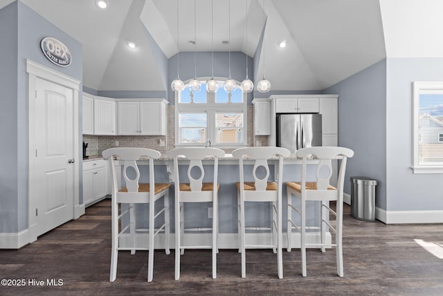
[[[194,53],[180,53],[180,78],[183,81],[195,76]],[[197,53],[197,78],[210,77],[212,73],[212,58],[210,52]],[[214,53],[214,77],[228,77],[229,54],[228,52]],[[240,52],[230,53],[230,76],[242,82],[246,78],[246,55]],[[248,76],[253,79],[253,59],[248,56]],[[174,104],[174,92],[170,87],[171,82],[177,78],[177,55],[173,55],[168,62],[168,98],[170,105]],[[248,105],[251,104],[253,94],[248,94]]]

